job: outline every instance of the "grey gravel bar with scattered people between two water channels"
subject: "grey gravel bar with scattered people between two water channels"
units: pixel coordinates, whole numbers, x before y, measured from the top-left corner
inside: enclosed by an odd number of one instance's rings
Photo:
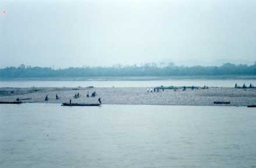
[[[86,97],[86,93],[96,92],[96,97]],[[79,93],[79,98],[74,94]],[[60,97],[56,100],[55,96]],[[48,95],[49,100],[45,101]],[[216,105],[214,101],[230,101],[229,106],[247,106],[256,104],[255,89],[234,89],[231,87],[209,87],[209,89],[166,89],[164,92],[148,93],[147,87],[27,87],[0,88],[0,101],[15,101],[23,103],[97,103],[101,97],[102,104],[151,104],[151,105]],[[219,105],[219,104],[218,104]]]

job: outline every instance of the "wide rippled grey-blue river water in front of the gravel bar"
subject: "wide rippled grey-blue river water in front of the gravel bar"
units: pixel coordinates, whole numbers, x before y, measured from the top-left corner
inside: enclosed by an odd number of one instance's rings
[[[0,105],[0,167],[255,167],[246,107]]]

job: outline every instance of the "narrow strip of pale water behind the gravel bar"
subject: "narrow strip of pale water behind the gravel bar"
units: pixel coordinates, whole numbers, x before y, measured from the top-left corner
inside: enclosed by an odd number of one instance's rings
[[[256,79],[162,79],[145,81],[38,81],[38,80],[10,80],[0,81],[0,87],[155,87],[155,86],[213,86],[234,87],[237,83],[247,86],[256,85]]]

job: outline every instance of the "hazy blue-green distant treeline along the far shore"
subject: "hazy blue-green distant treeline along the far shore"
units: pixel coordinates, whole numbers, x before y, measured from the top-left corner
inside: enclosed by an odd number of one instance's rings
[[[0,78],[55,78],[86,76],[207,76],[207,75],[256,75],[256,64],[230,64],[222,66],[176,66],[169,64],[158,67],[155,64],[115,65],[112,67],[70,67],[57,69],[50,67],[31,67],[24,64],[20,67],[0,69]]]

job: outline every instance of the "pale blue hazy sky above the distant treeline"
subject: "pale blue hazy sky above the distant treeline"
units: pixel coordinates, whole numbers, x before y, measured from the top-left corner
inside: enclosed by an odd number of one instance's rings
[[[1,0],[0,9],[0,67],[256,60],[255,0]]]

